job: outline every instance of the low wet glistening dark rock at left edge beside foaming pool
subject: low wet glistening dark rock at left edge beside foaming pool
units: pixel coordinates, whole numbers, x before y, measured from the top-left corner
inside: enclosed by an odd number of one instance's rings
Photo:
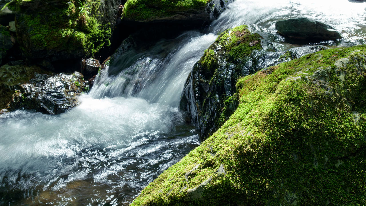
[[[89,90],[78,72],[52,74],[23,65],[4,65],[0,70],[3,112],[25,109],[60,114],[78,105],[77,97]]]

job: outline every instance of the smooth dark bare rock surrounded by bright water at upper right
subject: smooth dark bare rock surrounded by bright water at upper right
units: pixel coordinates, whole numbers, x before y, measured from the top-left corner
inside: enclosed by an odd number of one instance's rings
[[[341,34],[332,27],[307,18],[276,22],[276,29],[278,33],[290,38],[314,40],[337,40],[342,38]]]

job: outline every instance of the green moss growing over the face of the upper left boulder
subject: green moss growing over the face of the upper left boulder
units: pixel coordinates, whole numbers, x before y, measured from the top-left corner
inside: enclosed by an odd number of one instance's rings
[[[45,4],[45,8],[37,12],[18,11],[22,15],[17,22],[25,23],[23,27],[28,29],[29,39],[22,39],[25,52],[29,52],[29,48],[36,51],[83,50],[85,54],[92,55],[108,46],[110,25],[101,25],[97,20],[102,15],[99,12],[100,1],[84,0],[81,3],[85,6],[81,7],[79,2],[72,0],[58,7]]]

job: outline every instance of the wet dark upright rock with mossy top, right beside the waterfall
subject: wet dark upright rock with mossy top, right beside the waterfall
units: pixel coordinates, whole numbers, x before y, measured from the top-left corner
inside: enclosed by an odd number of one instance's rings
[[[253,72],[243,65],[253,51],[261,49],[261,36],[242,25],[221,33],[194,65],[180,109],[188,112],[202,137],[215,132],[234,112],[236,80]]]

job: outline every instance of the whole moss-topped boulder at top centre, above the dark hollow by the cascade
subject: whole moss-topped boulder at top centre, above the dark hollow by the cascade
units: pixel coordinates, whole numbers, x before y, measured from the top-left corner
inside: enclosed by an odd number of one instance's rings
[[[152,21],[209,21],[233,0],[127,0],[123,19]]]

